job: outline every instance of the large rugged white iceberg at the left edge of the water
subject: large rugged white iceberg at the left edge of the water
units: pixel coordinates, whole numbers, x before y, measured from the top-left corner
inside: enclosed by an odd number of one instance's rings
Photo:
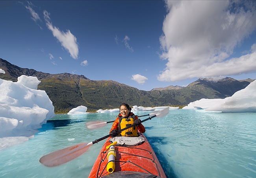
[[[37,90],[39,83],[36,77],[24,75],[18,82],[0,79],[0,149],[32,138],[55,116],[46,92]]]

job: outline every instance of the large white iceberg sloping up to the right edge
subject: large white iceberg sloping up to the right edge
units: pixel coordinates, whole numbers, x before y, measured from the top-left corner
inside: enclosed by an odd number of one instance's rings
[[[256,113],[256,80],[224,99],[201,99],[182,109],[205,109],[222,113]]]

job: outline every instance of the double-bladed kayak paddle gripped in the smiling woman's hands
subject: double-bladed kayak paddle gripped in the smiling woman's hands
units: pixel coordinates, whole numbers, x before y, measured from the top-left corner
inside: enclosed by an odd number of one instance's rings
[[[161,118],[161,117],[167,115],[168,113],[169,113],[169,108],[163,109],[159,112],[154,113],[153,116],[149,116],[147,119],[142,120],[141,123],[145,122],[153,117],[156,117],[156,116],[158,118]],[[135,125],[136,124],[129,125],[128,127],[117,131],[117,133],[121,133],[122,131],[129,129],[130,127],[134,127]],[[45,165],[47,167],[54,167],[54,166],[61,165],[63,163],[73,160],[74,158],[77,158],[81,154],[85,153],[85,151],[87,151],[91,145],[98,143],[98,142],[108,138],[109,136],[112,136],[112,135],[108,134],[108,135],[106,135],[102,138],[96,139],[90,143],[80,143],[77,145],[73,145],[73,146],[58,150],[58,151],[54,151],[52,153],[46,154],[45,156],[41,157],[39,162],[41,162],[43,165]]]

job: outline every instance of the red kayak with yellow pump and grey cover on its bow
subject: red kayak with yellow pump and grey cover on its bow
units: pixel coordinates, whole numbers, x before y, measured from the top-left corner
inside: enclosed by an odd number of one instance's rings
[[[148,140],[139,134],[139,137],[109,137],[89,178],[166,178]]]

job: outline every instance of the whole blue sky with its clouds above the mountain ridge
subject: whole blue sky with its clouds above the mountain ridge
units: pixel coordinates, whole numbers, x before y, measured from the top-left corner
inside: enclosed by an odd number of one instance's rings
[[[251,1],[0,1],[0,58],[149,91],[256,78]]]

